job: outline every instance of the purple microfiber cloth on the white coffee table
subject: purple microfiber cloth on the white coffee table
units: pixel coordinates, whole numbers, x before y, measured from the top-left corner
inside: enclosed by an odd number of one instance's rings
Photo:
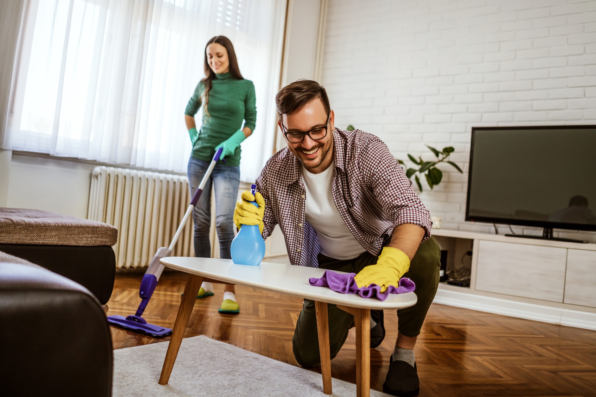
[[[381,301],[387,299],[390,293],[412,292],[416,287],[412,280],[403,277],[399,280],[399,287],[390,285],[384,292],[381,292],[381,286],[376,284],[358,288],[354,276],[356,273],[336,273],[333,270],[325,270],[323,277],[320,279],[311,277],[308,282],[315,287],[330,287],[335,292],[357,293],[362,298],[377,298]]]

